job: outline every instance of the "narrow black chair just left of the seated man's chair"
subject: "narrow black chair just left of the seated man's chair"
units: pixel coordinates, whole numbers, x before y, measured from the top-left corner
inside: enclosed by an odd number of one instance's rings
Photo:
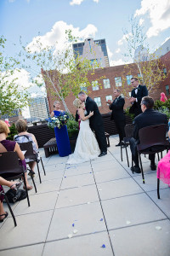
[[[129,167],[129,161],[128,161],[128,154],[127,154],[127,146],[129,145],[129,140],[131,137],[133,137],[133,124],[125,125],[125,135],[126,137],[123,138],[123,144],[124,148],[126,150],[126,155],[127,155],[127,166]],[[121,160],[122,160],[122,143],[121,143]]]

